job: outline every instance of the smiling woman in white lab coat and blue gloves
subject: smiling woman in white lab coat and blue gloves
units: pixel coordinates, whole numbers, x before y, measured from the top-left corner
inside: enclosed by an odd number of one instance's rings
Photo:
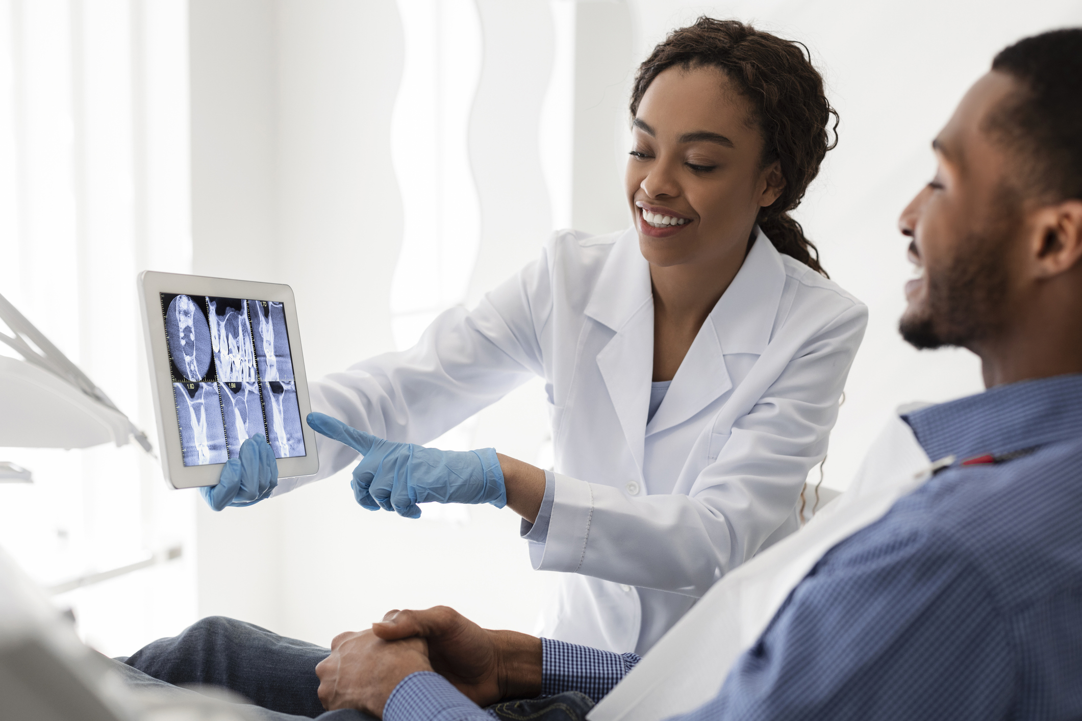
[[[797,43],[700,18],[639,67],[631,116],[632,228],[555,233],[413,348],[313,384],[308,423],[326,437],[319,477],[364,455],[353,488],[367,508],[511,506],[533,566],[567,572],[542,633],[642,654],[797,528],[867,309],[788,215],[836,118]],[[535,375],[555,472],[412,445]],[[215,508],[298,484],[275,488],[269,446],[248,443],[204,490]]]

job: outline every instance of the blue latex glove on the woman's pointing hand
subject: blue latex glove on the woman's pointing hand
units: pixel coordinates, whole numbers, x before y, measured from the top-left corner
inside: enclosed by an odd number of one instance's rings
[[[308,425],[345,443],[365,457],[353,469],[353,495],[369,510],[397,511],[418,518],[417,504],[492,504],[503,508],[507,492],[494,449],[439,451],[395,443],[351,428],[322,413],[309,413]]]

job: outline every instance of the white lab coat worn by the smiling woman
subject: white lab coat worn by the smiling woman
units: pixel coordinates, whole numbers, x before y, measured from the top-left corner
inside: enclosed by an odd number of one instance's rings
[[[859,301],[760,232],[647,424],[654,298],[637,235],[563,231],[413,348],[312,384],[312,409],[425,443],[543,377],[556,484],[531,558],[567,576],[542,633],[644,653],[722,575],[796,530],[866,323]],[[317,478],[357,457],[322,437],[318,450]]]

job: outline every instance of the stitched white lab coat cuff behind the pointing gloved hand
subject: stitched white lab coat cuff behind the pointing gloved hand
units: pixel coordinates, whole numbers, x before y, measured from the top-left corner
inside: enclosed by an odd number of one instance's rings
[[[582,565],[594,512],[594,493],[590,483],[553,473],[553,502],[549,532],[533,562],[539,571],[576,573]],[[547,489],[546,489],[547,490]],[[533,561],[531,549],[530,560]]]

